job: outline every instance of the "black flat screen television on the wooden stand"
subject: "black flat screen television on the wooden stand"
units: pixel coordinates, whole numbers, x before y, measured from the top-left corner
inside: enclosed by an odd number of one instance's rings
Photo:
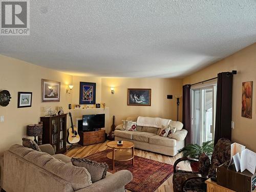
[[[82,116],[82,131],[95,131],[103,127],[105,127],[105,114]]]

